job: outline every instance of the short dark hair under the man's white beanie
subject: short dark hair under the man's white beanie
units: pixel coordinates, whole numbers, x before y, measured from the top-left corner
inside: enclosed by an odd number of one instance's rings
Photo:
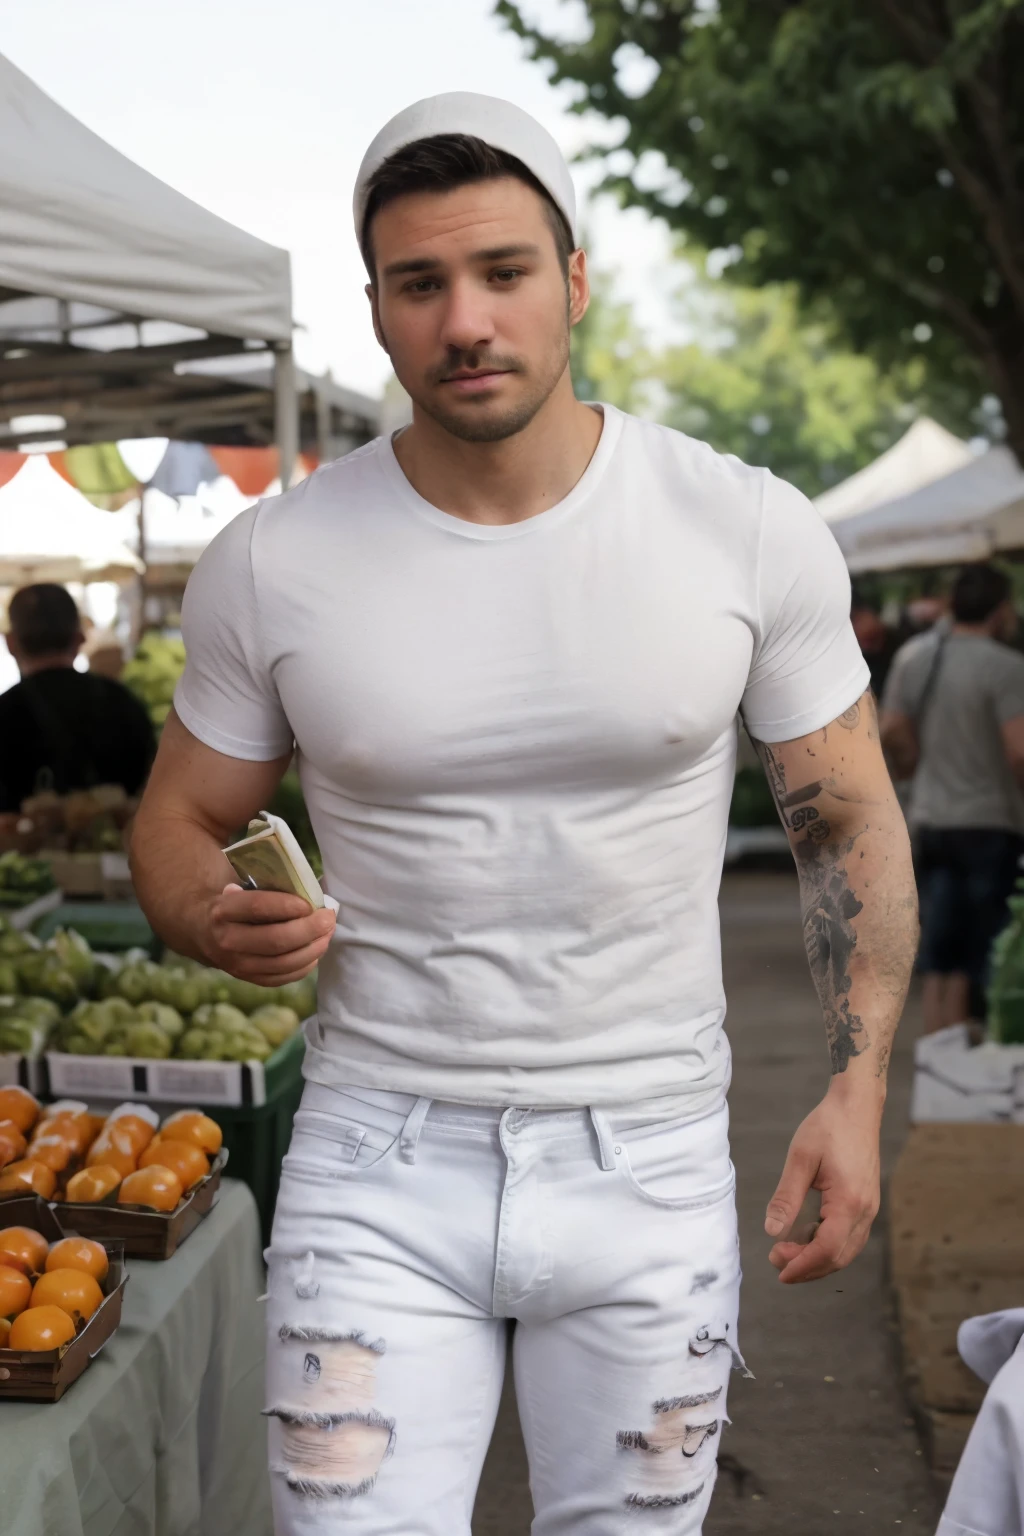
[[[493,181],[497,177],[516,177],[543,200],[559,263],[568,276],[570,253],[576,249],[573,230],[565,214],[533,170],[524,166],[516,155],[494,149],[493,144],[487,144],[473,134],[433,134],[430,138],[418,138],[415,143],[396,149],[367,181],[359,249],[370,281],[376,281],[370,227],[382,207],[410,192],[453,192],[456,187],[471,186],[474,181]]]

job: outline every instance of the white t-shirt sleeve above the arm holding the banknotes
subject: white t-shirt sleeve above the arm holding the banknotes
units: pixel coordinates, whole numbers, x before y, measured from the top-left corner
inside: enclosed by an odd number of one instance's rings
[[[259,505],[233,518],[189,578],[181,604],[186,668],[173,707],[215,751],[270,762],[292,750],[292,727],[263,651],[252,571],[258,513]]]

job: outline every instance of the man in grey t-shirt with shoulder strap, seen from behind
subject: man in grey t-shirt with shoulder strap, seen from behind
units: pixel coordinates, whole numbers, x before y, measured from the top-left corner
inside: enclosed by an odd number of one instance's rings
[[[1010,579],[967,565],[952,624],[897,653],[881,710],[894,773],[913,774],[926,1031],[984,1020],[992,940],[1024,852],[1024,657]]]

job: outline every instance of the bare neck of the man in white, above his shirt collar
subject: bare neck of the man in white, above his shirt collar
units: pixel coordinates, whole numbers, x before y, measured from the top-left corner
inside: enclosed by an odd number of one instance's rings
[[[421,410],[395,441],[395,456],[419,495],[465,522],[524,522],[557,505],[594,456],[602,416],[567,379],[533,421],[499,442],[467,442]]]

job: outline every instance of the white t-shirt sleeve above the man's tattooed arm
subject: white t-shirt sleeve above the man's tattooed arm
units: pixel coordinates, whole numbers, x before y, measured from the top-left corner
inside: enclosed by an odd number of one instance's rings
[[[746,728],[761,742],[791,742],[849,710],[869,685],[840,547],[808,498],[766,473]]]

